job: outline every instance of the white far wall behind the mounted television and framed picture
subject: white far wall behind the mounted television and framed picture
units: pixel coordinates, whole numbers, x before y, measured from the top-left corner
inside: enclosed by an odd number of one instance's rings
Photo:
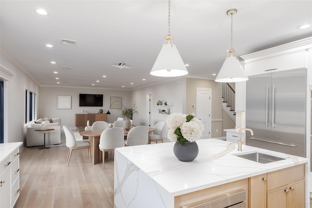
[[[97,113],[99,109],[103,109],[106,113],[110,106],[110,97],[122,97],[121,102],[124,106],[131,103],[131,92],[129,90],[109,90],[95,88],[73,88],[73,87],[40,87],[40,99],[38,117],[60,117],[61,125],[75,127],[75,113],[86,110],[88,113]],[[79,107],[79,94],[103,94],[103,107]],[[71,95],[72,109],[57,109],[57,96]],[[117,109],[110,109],[111,114],[108,121],[113,122],[117,117],[123,117]]]

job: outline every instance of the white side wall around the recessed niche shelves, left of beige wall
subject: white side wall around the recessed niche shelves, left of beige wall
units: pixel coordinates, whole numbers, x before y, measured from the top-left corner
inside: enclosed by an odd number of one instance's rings
[[[134,115],[133,119],[137,125],[148,125],[148,106],[147,95],[152,95],[151,99],[151,127],[158,121],[164,121],[168,115],[158,114],[156,106],[157,100],[166,100],[170,108],[170,113],[186,113],[186,78],[139,88],[132,90],[131,101],[136,103],[138,115]],[[166,107],[167,108],[167,107]],[[167,138],[167,127],[164,127],[163,136]]]

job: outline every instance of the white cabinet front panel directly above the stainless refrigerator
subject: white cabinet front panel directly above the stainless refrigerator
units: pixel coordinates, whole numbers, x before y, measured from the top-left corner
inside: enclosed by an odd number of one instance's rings
[[[303,50],[294,53],[283,54],[280,56],[247,62],[245,65],[247,76],[270,73],[274,71],[305,68],[306,67],[305,54],[306,52]]]

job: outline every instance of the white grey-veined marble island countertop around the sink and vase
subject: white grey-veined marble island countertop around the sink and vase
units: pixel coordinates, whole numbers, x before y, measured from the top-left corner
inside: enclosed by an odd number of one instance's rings
[[[181,162],[173,153],[174,142],[117,148],[140,170],[171,195],[180,195],[237,181],[255,175],[308,163],[309,159],[263,150],[218,139],[197,140],[199,153],[192,162]],[[261,151],[284,160],[261,164],[233,154]]]

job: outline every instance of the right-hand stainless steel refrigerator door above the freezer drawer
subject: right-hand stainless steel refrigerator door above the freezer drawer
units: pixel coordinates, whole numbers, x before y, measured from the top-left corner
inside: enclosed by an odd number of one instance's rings
[[[272,139],[305,144],[306,70],[272,73],[272,88]]]

